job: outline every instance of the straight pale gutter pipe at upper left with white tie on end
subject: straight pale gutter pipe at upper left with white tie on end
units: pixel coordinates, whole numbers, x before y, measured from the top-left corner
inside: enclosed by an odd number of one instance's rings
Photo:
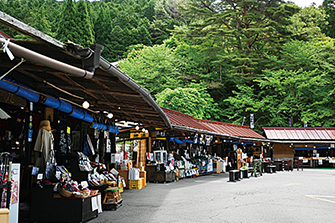
[[[74,67],[72,65],[60,62],[58,60],[52,59],[50,57],[44,56],[42,54],[36,53],[32,50],[19,46],[15,43],[10,42],[4,38],[0,38],[0,46],[4,47],[5,51],[10,50],[15,56],[24,58],[28,61],[42,64],[46,67],[58,70],[64,73],[72,74],[77,77],[92,78],[94,76],[93,72]]]

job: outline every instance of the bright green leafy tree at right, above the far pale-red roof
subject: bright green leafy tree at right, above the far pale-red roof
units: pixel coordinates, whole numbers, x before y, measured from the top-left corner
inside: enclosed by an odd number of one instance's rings
[[[238,85],[227,113],[240,123],[243,116],[256,116],[256,127],[334,125],[334,40],[322,42],[292,41],[284,45],[277,64],[265,70],[255,85]]]

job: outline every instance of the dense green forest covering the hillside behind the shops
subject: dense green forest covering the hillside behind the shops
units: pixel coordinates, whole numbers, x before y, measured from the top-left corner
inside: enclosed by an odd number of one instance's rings
[[[0,10],[102,56],[162,107],[262,127],[335,124],[335,0],[0,0]],[[6,27],[15,38],[27,38]]]

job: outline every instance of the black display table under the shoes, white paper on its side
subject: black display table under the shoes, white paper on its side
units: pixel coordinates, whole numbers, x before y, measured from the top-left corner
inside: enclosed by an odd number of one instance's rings
[[[30,221],[84,222],[98,217],[98,209],[93,211],[96,206],[93,202],[101,200],[100,194],[87,198],[54,198],[52,189],[52,185],[32,188]]]

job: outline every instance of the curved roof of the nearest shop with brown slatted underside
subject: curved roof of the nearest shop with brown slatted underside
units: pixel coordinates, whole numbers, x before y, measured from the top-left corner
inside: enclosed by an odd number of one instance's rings
[[[82,58],[76,53],[78,45],[62,43],[1,11],[0,24],[34,39],[11,39],[11,42],[54,60],[82,68]],[[0,74],[4,74],[14,67],[20,58],[16,57],[11,61],[5,53],[0,52],[0,61]],[[60,72],[29,59],[9,73],[8,77],[41,93],[62,97],[78,105],[86,98],[92,111],[112,112],[118,120],[171,128],[169,119],[148,91],[102,57],[91,79]]]

